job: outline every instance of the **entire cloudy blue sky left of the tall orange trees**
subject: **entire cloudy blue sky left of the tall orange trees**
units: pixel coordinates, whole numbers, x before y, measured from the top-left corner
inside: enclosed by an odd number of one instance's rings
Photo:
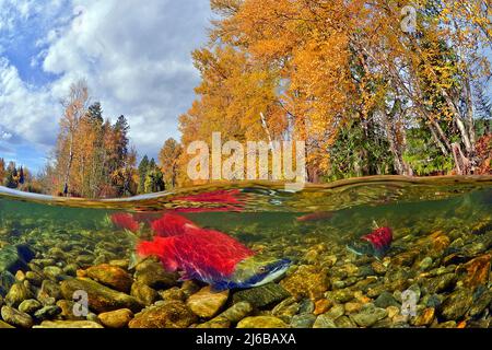
[[[85,78],[92,101],[124,114],[156,156],[194,100],[190,52],[207,40],[209,0],[0,0],[0,158],[35,172],[56,142],[59,101]]]

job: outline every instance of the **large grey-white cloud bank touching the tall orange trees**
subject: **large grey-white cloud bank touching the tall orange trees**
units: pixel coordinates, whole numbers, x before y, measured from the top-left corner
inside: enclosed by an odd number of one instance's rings
[[[142,152],[176,136],[177,117],[192,100],[198,73],[190,51],[204,38],[208,0],[81,1],[75,19],[54,39],[43,67],[62,74],[56,94],[86,77],[106,116],[128,116]]]

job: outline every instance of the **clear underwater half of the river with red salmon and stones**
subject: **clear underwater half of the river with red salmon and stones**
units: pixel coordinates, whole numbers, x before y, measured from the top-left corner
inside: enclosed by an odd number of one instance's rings
[[[0,328],[488,328],[492,177],[0,188]]]

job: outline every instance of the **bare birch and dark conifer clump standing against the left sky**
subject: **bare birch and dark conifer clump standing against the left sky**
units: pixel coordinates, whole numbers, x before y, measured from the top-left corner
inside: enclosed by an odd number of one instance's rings
[[[55,151],[55,194],[87,198],[130,196],[137,192],[137,152],[129,124],[119,116],[104,119],[101,103],[89,103],[84,81],[73,84],[65,101],[65,116]],[[51,175],[51,170],[48,172]]]

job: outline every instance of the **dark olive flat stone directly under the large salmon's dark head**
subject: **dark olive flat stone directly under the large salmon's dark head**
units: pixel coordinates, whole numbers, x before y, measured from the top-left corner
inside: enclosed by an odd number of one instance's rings
[[[248,302],[255,307],[265,307],[289,298],[289,292],[277,283],[238,291],[233,295],[233,303]]]

